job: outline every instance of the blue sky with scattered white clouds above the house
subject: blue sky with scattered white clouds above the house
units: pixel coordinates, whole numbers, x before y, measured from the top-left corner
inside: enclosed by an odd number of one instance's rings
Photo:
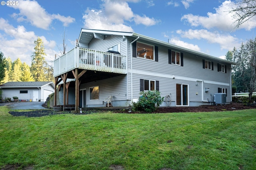
[[[53,61],[60,55],[64,31],[69,51],[81,28],[136,32],[222,58],[255,37],[255,18],[234,29],[227,12],[234,7],[231,0],[18,0],[15,6],[4,2],[0,51],[29,65],[38,37],[46,60]]]

